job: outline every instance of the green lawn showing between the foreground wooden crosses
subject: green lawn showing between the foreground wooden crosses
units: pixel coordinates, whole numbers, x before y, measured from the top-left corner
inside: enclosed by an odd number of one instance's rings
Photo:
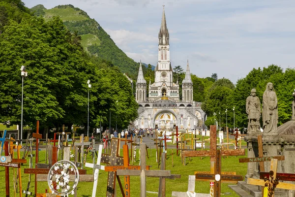
[[[138,147],[139,148],[139,147]],[[129,150],[130,152],[130,150]],[[172,191],[180,191],[186,192],[187,184],[188,184],[188,175],[193,175],[194,171],[209,171],[210,170],[210,158],[205,157],[202,160],[200,158],[189,158],[186,159],[186,165],[181,164],[180,157],[176,157],[174,155],[174,166],[172,167],[172,156],[170,155],[172,149],[167,150],[167,161],[166,161],[166,169],[171,170],[171,174],[181,174],[180,179],[170,180],[166,179],[166,196],[171,197]],[[176,153],[176,150],[173,150]],[[39,161],[40,163],[45,163],[45,151],[39,152]],[[122,155],[122,149],[121,149]],[[130,153],[129,153],[130,155]],[[21,153],[22,156],[22,153]],[[158,164],[156,163],[156,155],[155,149],[148,149],[148,156],[147,164],[152,165],[151,169],[158,169]],[[239,157],[228,157],[222,158],[222,171],[235,171],[238,175],[245,175],[247,171],[247,164],[246,163],[238,163],[238,158],[243,158],[245,156]],[[33,159],[35,160],[35,159]],[[92,163],[92,159],[88,156],[87,162]],[[139,165],[139,155],[137,154],[136,163],[134,165]],[[27,188],[28,183],[28,174],[24,174],[24,168],[29,167],[29,159],[28,164],[24,164],[22,166],[22,187],[23,189]],[[16,174],[16,168],[14,170]],[[87,168],[87,174],[92,174],[92,168]],[[9,170],[10,174],[10,196],[14,196],[14,189],[13,189],[13,168]],[[34,191],[34,175],[31,176],[31,185],[29,191]],[[98,177],[98,187],[96,196],[97,197],[104,197],[106,196],[106,187],[107,187],[107,177],[108,173],[100,170],[99,177]],[[121,178],[121,182],[123,182]],[[0,167],[0,197],[5,196],[5,170],[4,167]],[[116,182],[117,184],[117,182]],[[157,192],[159,185],[159,178],[149,178],[147,177],[147,191]],[[118,184],[117,184],[118,186]],[[93,183],[82,183],[78,184],[78,197],[91,197],[92,194],[92,187]],[[47,182],[38,182],[38,193],[45,193],[45,189],[48,189]],[[209,193],[209,182],[201,182],[196,181],[196,193]],[[130,177],[130,193],[131,197],[139,197],[140,196],[140,178],[131,176]],[[222,184],[221,193],[231,193],[231,195],[227,195],[228,197],[238,197],[234,191],[232,191],[227,184]],[[119,187],[117,187],[117,194],[121,196]],[[19,196],[19,194],[17,194]],[[150,194],[147,193],[147,197],[157,197],[157,194]]]

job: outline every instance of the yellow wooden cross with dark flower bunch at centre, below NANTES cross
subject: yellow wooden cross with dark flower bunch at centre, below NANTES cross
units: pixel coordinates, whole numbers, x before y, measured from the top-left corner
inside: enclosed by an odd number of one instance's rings
[[[276,173],[277,164],[278,164],[277,159],[271,159],[270,171],[269,171],[270,178],[267,178],[267,176],[264,177],[264,180],[248,178],[247,184],[266,186],[265,187],[265,194],[267,192],[268,197],[274,197],[274,189],[275,188],[285,189],[285,190],[295,190],[294,184],[282,183],[282,182],[278,181],[278,179],[277,179],[278,177],[277,177],[277,173]]]

